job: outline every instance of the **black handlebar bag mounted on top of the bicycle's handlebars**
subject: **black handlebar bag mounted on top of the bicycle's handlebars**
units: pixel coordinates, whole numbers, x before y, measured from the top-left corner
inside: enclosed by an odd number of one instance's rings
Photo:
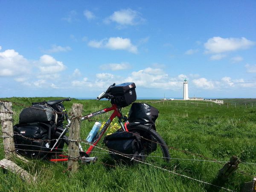
[[[118,107],[130,105],[137,99],[135,88],[136,85],[133,82],[111,86],[109,93],[115,97],[111,99],[111,103],[116,104]]]

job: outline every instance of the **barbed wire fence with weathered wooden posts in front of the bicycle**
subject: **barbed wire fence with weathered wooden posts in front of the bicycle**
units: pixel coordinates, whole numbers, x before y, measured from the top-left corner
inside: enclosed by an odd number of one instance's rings
[[[12,139],[13,140],[13,138],[15,137],[15,135],[19,135],[19,136],[21,136],[21,137],[24,137],[24,136],[22,136],[22,135],[20,135],[20,134],[15,134],[15,133],[13,133],[13,132],[11,132],[11,131],[9,131],[9,130],[5,130],[4,128],[5,128],[5,124],[7,123],[9,123],[9,125],[11,125],[11,123],[13,122],[13,119],[12,119],[12,114],[13,114],[13,112],[12,112],[12,103],[14,103],[15,105],[20,105],[20,106],[23,106],[23,107],[30,107],[30,106],[26,106],[26,105],[23,105],[23,104],[20,104],[20,103],[16,103],[16,102],[6,102],[6,101],[1,101],[0,100],[0,105],[1,106],[4,106],[3,108],[1,107],[1,110],[0,110],[0,114],[8,114],[8,115],[11,115],[11,117],[10,116],[8,116],[8,117],[6,117],[6,116],[4,116],[4,117],[2,117],[2,118],[0,118],[0,122],[1,122],[1,124],[2,124],[2,133],[3,133],[3,143],[0,143],[0,144],[3,144],[4,145],[4,148],[6,148],[6,140],[7,139]],[[9,108],[6,108],[6,105],[9,105],[9,104],[11,104],[10,105],[10,109]],[[73,104],[74,105],[74,104]],[[80,112],[82,111],[82,105],[81,104],[76,104],[77,106],[75,107],[75,108],[80,108],[80,109],[78,109],[78,111],[80,110]],[[80,106],[78,106],[78,105],[80,105]],[[33,108],[33,107],[32,107]],[[37,110],[44,110],[44,109],[38,109],[38,108],[36,108]],[[44,110],[45,111],[45,110]],[[78,113],[76,113],[76,112],[74,112],[74,110],[72,109],[72,113],[67,113],[67,114],[69,114],[70,116],[72,116],[72,118],[71,118],[71,124],[73,125],[71,125],[71,127],[70,127],[70,132],[71,132],[71,130],[72,129],[75,129],[75,131],[74,132],[79,132],[79,134],[80,134],[80,123],[81,123],[81,113],[80,112],[78,112]],[[62,114],[64,114],[63,112],[57,112],[57,113],[62,113]],[[92,119],[90,119],[90,120],[92,120]],[[75,122],[76,121],[76,122]],[[12,128],[12,126],[9,126],[9,127],[11,127]],[[78,130],[76,130],[76,128],[78,128],[79,127],[79,131]],[[32,139],[32,138],[28,138],[28,137],[26,137],[26,139],[29,139],[29,140],[35,140],[35,139]],[[147,140],[146,138],[143,138],[143,139],[145,139],[145,140]],[[45,140],[46,142],[50,142],[50,141],[55,141],[56,139],[53,139],[53,140]],[[65,140],[64,138],[61,138],[61,140]],[[150,140],[151,142],[155,142],[155,141],[152,141],[152,140]],[[9,141],[8,141],[9,142]],[[85,145],[92,145],[91,143],[88,143],[86,140],[82,140],[80,137],[79,137],[79,135],[78,136],[76,136],[76,137],[69,137],[69,139],[68,139],[68,143],[70,143],[70,145],[69,145],[69,148],[68,149],[63,149],[63,151],[67,151],[68,152],[68,155],[66,155],[65,157],[67,157],[67,159],[70,161],[70,162],[72,162],[71,164],[70,163],[68,163],[68,169],[67,170],[73,170],[73,171],[76,171],[77,170],[77,165],[78,165],[78,160],[79,160],[79,143],[84,143]],[[71,144],[74,144],[75,146],[74,147],[70,147],[71,146]],[[155,142],[156,143],[156,142]],[[160,143],[157,143],[158,145],[161,145]],[[9,144],[7,144],[8,145],[8,148],[10,148],[11,147],[11,149],[8,149],[8,150],[5,150],[5,153],[7,153],[7,154],[9,154],[10,152],[12,152],[12,156],[10,156],[10,157],[8,157],[9,159],[13,159],[13,157],[16,155],[15,154],[15,143],[14,143],[14,141],[12,142],[10,142]],[[19,145],[22,145],[22,144],[16,144],[16,146],[19,146]],[[94,146],[94,145],[93,145]],[[215,187],[217,187],[217,188],[220,188],[220,189],[225,189],[225,190],[227,190],[227,191],[233,191],[233,190],[231,190],[231,189],[226,189],[226,188],[224,188],[224,187],[222,187],[222,186],[217,186],[217,185],[215,185],[215,184],[212,184],[212,183],[208,183],[208,182],[205,182],[205,181],[201,181],[201,180],[197,180],[197,179],[195,179],[195,178],[192,178],[192,177],[188,177],[188,176],[186,176],[186,175],[182,175],[182,174],[179,174],[179,173],[177,173],[177,172],[174,172],[174,171],[170,171],[170,170],[168,170],[168,169],[164,169],[164,168],[162,168],[162,167],[159,167],[159,166],[155,166],[155,165],[153,165],[153,164],[151,164],[151,163],[147,163],[147,162],[143,162],[143,161],[141,161],[141,160],[138,160],[138,159],[136,159],[136,158],[132,158],[131,156],[129,156],[129,154],[122,154],[122,153],[120,153],[120,152],[118,152],[118,151],[109,151],[108,149],[105,149],[105,148],[102,148],[102,147],[99,147],[99,146],[94,146],[95,148],[98,148],[98,149],[100,149],[101,151],[93,151],[93,152],[95,152],[95,153],[105,153],[105,154],[118,154],[118,155],[120,155],[120,156],[123,156],[123,157],[127,157],[127,158],[130,158],[131,160],[135,160],[135,161],[137,161],[137,162],[140,162],[140,163],[144,163],[144,164],[146,164],[146,165],[149,165],[149,166],[153,166],[153,167],[155,167],[155,168],[157,168],[157,169],[161,169],[161,170],[163,170],[163,171],[166,171],[166,172],[169,172],[169,173],[172,173],[172,174],[174,174],[174,175],[178,175],[178,176],[180,176],[180,177],[186,177],[186,178],[188,178],[188,179],[190,179],[190,180],[195,180],[195,181],[198,181],[198,182],[200,182],[200,183],[204,183],[204,184],[207,184],[207,185],[210,185],[210,186],[215,186]],[[190,152],[190,151],[184,151],[184,150],[180,150],[180,149],[177,149],[177,148],[174,148],[174,147],[171,147],[171,146],[167,146],[168,148],[169,148],[169,150],[176,150],[176,151],[181,151],[181,152],[183,152],[183,153],[186,153],[186,154],[191,154],[191,155],[193,155],[193,156],[197,156],[197,157],[201,157],[201,158],[204,158],[204,160],[202,160],[202,159],[184,159],[184,158],[173,158],[173,157],[169,157],[169,159],[170,160],[186,160],[186,161],[204,161],[204,162],[211,162],[211,163],[229,163],[229,164],[227,164],[228,166],[233,166],[234,165],[234,163],[237,163],[237,166],[236,167],[233,167],[233,169],[231,170],[231,172],[234,170],[234,169],[237,169],[238,168],[238,164],[239,163],[244,163],[244,164],[250,164],[250,165],[256,165],[256,163],[253,163],[253,162],[241,162],[240,160],[239,160],[239,162],[238,162],[238,160],[230,160],[229,162],[227,162],[227,161],[222,161],[222,160],[215,160],[215,159],[210,159],[210,158],[208,158],[208,157],[205,157],[204,155],[201,155],[201,154],[196,154],[196,153],[192,153],[192,152]],[[26,150],[26,151],[28,151],[27,149],[20,149],[20,148],[16,148],[16,150]],[[35,150],[32,150],[32,151],[35,151]],[[38,150],[38,152],[40,152],[41,150]],[[55,152],[52,152],[52,153],[55,153],[55,155],[56,154],[63,154],[63,151],[55,151]],[[50,152],[50,151],[49,151]],[[50,152],[51,153],[51,152]],[[151,156],[149,156],[148,155],[148,157],[151,157]],[[157,158],[165,158],[165,157],[160,157],[160,156],[152,156],[152,157],[157,157]],[[20,157],[19,157],[20,158]],[[1,160],[2,161],[2,160]],[[74,163],[74,162],[76,162],[76,163]],[[75,166],[72,166],[72,164],[75,164]],[[225,165],[226,165],[225,164]],[[232,165],[233,164],[233,165]],[[1,165],[2,166],[2,168],[3,169],[10,169],[10,166],[8,166],[8,165]],[[21,168],[18,168],[19,170],[21,170]],[[10,169],[10,170],[12,170],[12,169]],[[226,170],[227,171],[227,170]],[[13,172],[15,172],[15,170],[13,171]],[[250,176],[250,177],[253,177],[254,178],[254,176],[253,175],[250,175],[250,174],[248,174],[248,173],[246,173],[246,172],[243,172],[243,171],[239,171],[241,174],[244,174],[244,175],[247,175],[247,176]],[[19,175],[21,175],[21,177],[23,178],[23,179],[26,179],[26,180],[29,180],[29,181],[35,181],[35,177],[33,177],[33,176],[31,176],[31,175],[29,175],[29,173],[27,173],[26,174],[26,171],[25,170],[22,170],[21,172],[16,172],[17,174],[19,174]],[[23,175],[21,174],[21,173],[23,173]],[[25,174],[24,174],[25,173]],[[28,176],[24,176],[24,175],[28,175]]]

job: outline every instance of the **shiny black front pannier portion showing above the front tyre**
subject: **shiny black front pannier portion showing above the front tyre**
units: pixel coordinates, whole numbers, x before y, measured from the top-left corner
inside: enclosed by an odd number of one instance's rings
[[[128,120],[129,122],[139,122],[140,124],[154,128],[159,111],[146,103],[133,103],[131,105]]]

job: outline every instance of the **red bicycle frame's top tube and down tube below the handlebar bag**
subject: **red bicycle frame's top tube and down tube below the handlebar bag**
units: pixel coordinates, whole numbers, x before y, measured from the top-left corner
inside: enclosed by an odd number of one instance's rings
[[[111,108],[105,108],[105,109],[102,109],[102,110],[99,110],[99,111],[96,111],[94,113],[90,113],[86,116],[83,116],[81,118],[81,120],[86,120],[86,119],[90,119],[94,116],[97,116],[97,115],[100,115],[102,113],[107,113],[109,111],[114,111],[112,113],[112,115],[109,117],[108,121],[105,123],[105,125],[103,126],[103,128],[99,131],[99,133],[96,134],[96,136],[94,137],[93,139],[93,142],[91,143],[90,147],[87,149],[86,151],[86,154],[90,154],[92,151],[93,151],[93,148],[95,147],[95,145],[97,145],[97,143],[99,142],[99,140],[101,139],[101,137],[103,136],[103,134],[105,133],[105,131],[108,129],[109,125],[111,124],[111,122],[113,121],[113,119],[117,116],[118,118],[122,118],[122,114],[120,113],[119,111],[119,108],[113,104]],[[124,126],[122,125],[122,122],[119,122],[121,127],[124,128]],[[128,131],[125,130],[124,131]]]

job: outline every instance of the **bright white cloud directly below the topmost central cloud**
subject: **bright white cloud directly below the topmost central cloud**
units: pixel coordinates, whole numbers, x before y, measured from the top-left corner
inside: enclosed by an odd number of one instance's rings
[[[88,46],[94,48],[107,48],[112,50],[127,50],[132,53],[137,53],[137,47],[131,43],[129,38],[111,37],[100,41],[89,41]]]

